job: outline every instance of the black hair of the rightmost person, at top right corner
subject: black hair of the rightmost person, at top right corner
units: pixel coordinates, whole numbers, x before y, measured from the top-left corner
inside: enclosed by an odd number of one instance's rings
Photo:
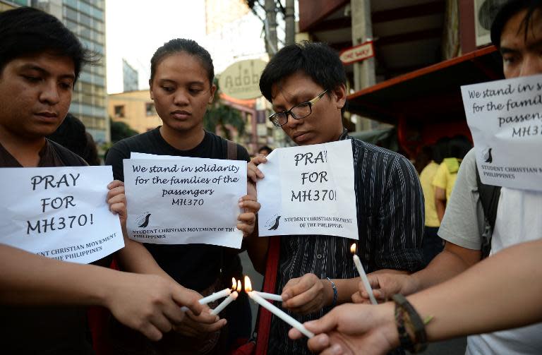
[[[527,10],[527,13],[525,14],[522,25],[524,26],[524,35],[526,38],[534,11],[542,9],[542,0],[510,0],[500,7],[491,24],[491,42],[493,42],[496,47],[500,47],[500,35],[502,35],[502,29],[505,28],[508,20],[516,13],[519,13],[519,11],[525,9]]]

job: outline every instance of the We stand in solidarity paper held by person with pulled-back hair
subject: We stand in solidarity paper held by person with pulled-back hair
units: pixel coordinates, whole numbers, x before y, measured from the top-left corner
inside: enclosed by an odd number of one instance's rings
[[[241,248],[246,162],[164,155],[124,160],[128,236],[155,244]],[[139,158],[141,157],[141,158]]]

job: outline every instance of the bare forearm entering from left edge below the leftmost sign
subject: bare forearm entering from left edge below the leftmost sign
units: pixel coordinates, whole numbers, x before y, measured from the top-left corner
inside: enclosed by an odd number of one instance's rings
[[[106,306],[121,272],[62,262],[0,245],[0,302],[9,305]]]

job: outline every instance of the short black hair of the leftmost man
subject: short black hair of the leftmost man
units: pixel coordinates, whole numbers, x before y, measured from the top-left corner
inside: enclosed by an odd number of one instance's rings
[[[76,79],[92,52],[59,19],[37,8],[20,7],[0,13],[0,73],[13,59],[50,52],[72,59]]]

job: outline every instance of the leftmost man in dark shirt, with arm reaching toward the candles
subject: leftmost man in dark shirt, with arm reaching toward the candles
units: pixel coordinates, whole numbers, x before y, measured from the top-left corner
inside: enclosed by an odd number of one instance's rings
[[[54,16],[33,8],[0,13],[0,168],[87,165],[45,138],[66,116],[86,61]],[[126,218],[124,190],[113,186],[109,208]],[[155,275],[61,262],[1,243],[0,260],[2,354],[92,354],[85,306],[107,307],[155,340],[181,322],[179,304],[202,310],[198,294]]]

